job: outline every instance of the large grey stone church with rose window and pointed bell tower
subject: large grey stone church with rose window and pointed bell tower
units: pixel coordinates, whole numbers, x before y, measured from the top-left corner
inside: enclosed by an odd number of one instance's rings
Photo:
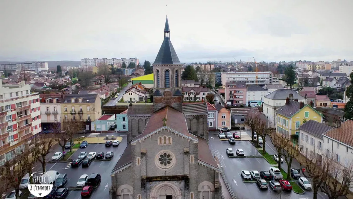
[[[152,64],[153,105],[128,107],[128,144],[110,174],[112,199],[221,199],[207,104],[183,103],[182,64],[169,34],[167,17]]]

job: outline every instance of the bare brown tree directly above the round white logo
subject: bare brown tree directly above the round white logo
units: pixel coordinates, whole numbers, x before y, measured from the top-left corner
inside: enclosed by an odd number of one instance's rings
[[[55,134],[41,134],[39,141],[33,147],[33,152],[36,154],[37,160],[42,164],[42,171],[46,172],[47,160],[46,157],[50,153],[50,149],[55,144]]]

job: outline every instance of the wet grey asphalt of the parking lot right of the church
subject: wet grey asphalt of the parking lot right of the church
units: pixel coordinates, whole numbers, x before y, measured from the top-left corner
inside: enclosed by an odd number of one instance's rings
[[[245,131],[246,132],[246,131]],[[306,199],[312,198],[312,191],[306,191],[304,194],[296,194],[294,192],[274,192],[272,188],[268,190],[260,190],[256,183],[243,182],[243,178],[240,175],[241,170],[257,170],[257,171],[268,171],[271,165],[264,158],[229,158],[226,154],[227,148],[243,149],[245,156],[261,155],[257,149],[251,144],[250,141],[237,141],[235,144],[229,144],[228,141],[221,141],[216,134],[210,135],[209,138],[210,150],[219,157],[220,165],[223,173],[225,174],[229,185],[232,187],[234,194],[238,198],[250,199],[250,198],[297,198]],[[270,138],[267,138],[266,150],[269,154],[276,154],[273,145],[271,144]],[[294,161],[294,160],[293,160]],[[293,163],[293,167],[300,167],[299,163]],[[286,163],[283,163],[283,168],[287,168]],[[286,169],[285,169],[286,170]],[[323,193],[318,194],[318,198],[326,199]]]

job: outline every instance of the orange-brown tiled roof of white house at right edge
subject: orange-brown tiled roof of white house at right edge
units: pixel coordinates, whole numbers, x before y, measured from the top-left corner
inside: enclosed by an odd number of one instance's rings
[[[346,120],[342,122],[341,126],[338,128],[333,128],[323,135],[333,138],[337,141],[348,144],[353,147],[353,120]]]

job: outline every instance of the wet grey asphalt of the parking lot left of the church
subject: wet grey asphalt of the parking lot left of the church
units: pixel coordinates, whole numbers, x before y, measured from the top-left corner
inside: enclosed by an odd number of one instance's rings
[[[80,148],[75,153],[72,154],[70,159],[77,158],[80,152],[104,152],[107,151],[114,152],[114,157],[111,161],[92,161],[89,167],[82,167],[82,164],[78,167],[71,167],[71,163],[68,162],[56,162],[56,163],[48,163],[46,166],[46,170],[56,170],[59,171],[60,174],[67,174],[68,182],[65,187],[76,187],[76,183],[78,178],[83,174],[93,174],[98,173],[101,175],[101,183],[94,190],[91,198],[109,198],[109,188],[111,186],[110,172],[112,172],[114,166],[118,162],[121,154],[124,152],[127,146],[126,136],[123,136],[122,142],[118,147],[105,147],[105,144],[88,144],[86,148]],[[55,148],[60,151],[60,147]],[[70,149],[66,149],[69,151]],[[54,151],[53,151],[54,153]],[[51,155],[49,158],[51,158]],[[35,166],[34,171],[41,171],[41,166]],[[68,194],[68,199],[79,199],[81,198],[81,191],[70,191]]]

